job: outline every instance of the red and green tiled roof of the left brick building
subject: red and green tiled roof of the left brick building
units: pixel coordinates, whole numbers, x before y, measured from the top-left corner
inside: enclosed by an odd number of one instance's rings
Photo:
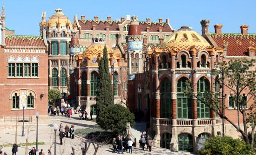
[[[45,47],[40,36],[6,35],[5,43],[7,46]]]

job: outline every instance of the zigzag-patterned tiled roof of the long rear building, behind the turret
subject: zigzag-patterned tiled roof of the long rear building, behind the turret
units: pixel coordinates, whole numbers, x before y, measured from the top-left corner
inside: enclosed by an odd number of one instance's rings
[[[93,30],[93,26],[96,26],[96,30],[105,31],[106,26],[109,26],[110,31],[120,31],[118,28],[118,25],[121,24],[121,21],[119,20],[81,20],[78,19],[79,25],[81,26],[82,30]],[[172,32],[171,27],[168,25],[168,23],[162,22],[144,22],[140,21],[140,28],[141,32],[147,32],[147,27],[149,27],[150,32],[159,32],[159,27],[162,27],[162,32]]]

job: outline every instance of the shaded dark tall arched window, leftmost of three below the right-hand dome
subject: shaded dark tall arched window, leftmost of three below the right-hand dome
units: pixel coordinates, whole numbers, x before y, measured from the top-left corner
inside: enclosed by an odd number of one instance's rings
[[[161,118],[172,118],[171,82],[164,78],[161,83]]]

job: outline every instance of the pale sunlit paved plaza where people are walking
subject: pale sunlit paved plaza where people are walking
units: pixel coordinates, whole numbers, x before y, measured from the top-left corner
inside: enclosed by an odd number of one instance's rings
[[[40,118],[39,118],[40,119]],[[53,124],[57,123],[58,126],[60,123],[63,124],[63,127],[66,124],[70,127],[71,124],[74,124],[74,129],[81,129],[81,128],[93,128],[97,126],[95,121],[85,121],[85,120],[78,120],[78,115],[75,114],[74,118],[67,118],[64,116],[49,116],[49,119],[46,121],[39,121],[39,134],[38,134],[38,142],[45,142],[45,145],[39,145],[38,149],[43,149],[45,154],[47,153],[47,149],[51,149],[52,155],[54,155],[54,129]],[[2,125],[3,123],[1,123]],[[9,124],[15,125],[15,123],[5,123],[6,125]],[[30,123],[30,131],[27,135],[27,127],[25,128],[25,137],[21,137],[22,134],[22,123],[19,123],[19,128],[17,132],[17,143],[25,143],[26,138],[28,138],[28,142],[35,142],[36,141],[36,122]],[[28,126],[28,123],[26,123]],[[58,135],[57,131],[57,135]],[[15,129],[5,129],[0,132],[0,145],[1,144],[13,144],[15,142]],[[60,145],[59,136],[57,136],[57,155],[71,155],[72,149],[71,146],[75,149],[75,155],[81,155],[81,143],[83,140],[75,137],[74,139],[64,138],[63,145]],[[33,146],[28,146],[28,149],[32,149]],[[35,146],[34,146],[35,147]],[[12,147],[2,148],[3,151],[7,152],[7,155],[11,155]],[[28,152],[29,152],[28,150]],[[93,145],[90,146],[87,155],[94,154],[94,147]],[[112,146],[111,145],[104,145],[98,149],[97,155],[112,155],[117,153],[112,153]],[[124,154],[129,154],[128,152],[124,152]],[[148,149],[142,151],[140,148],[133,147],[133,154],[135,155],[192,155],[188,153],[174,153],[167,149],[160,149],[152,147],[152,152],[148,152]],[[17,155],[25,155],[25,146],[18,148]],[[46,154],[47,155],[47,154]]]

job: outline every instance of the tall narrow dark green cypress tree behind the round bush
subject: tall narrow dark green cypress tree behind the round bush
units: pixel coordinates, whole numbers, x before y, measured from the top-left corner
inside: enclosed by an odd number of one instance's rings
[[[103,58],[99,64],[99,76],[96,91],[97,122],[101,112],[109,105],[114,104],[111,78],[108,69],[108,52],[106,45],[103,50]],[[99,123],[99,122],[98,122]]]

